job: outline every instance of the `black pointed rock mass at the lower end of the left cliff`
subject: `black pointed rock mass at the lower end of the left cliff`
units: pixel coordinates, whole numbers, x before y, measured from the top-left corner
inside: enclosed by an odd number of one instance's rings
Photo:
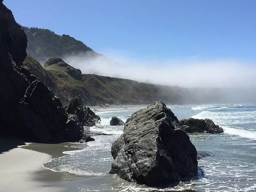
[[[60,143],[85,136],[77,117],[68,116],[60,99],[39,80],[29,85],[20,100],[18,122],[25,128],[20,134],[31,141]]]

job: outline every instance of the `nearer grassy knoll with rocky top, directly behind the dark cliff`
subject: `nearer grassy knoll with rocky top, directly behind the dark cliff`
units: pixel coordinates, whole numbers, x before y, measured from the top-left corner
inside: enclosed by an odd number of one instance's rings
[[[60,61],[58,58],[57,60],[56,58],[51,58],[46,62],[46,66],[43,68],[38,61],[28,55],[24,60],[24,65],[27,66],[44,85],[52,89],[52,91],[60,97],[63,105],[66,105],[69,100],[77,95],[81,95],[84,105],[95,105],[95,100],[86,90],[82,82],[81,71],[68,65],[63,60],[61,60],[61,62],[58,61]],[[50,65],[48,65],[48,63],[50,63]],[[78,73],[78,75],[76,73]],[[81,76],[80,80],[78,80],[79,74]]]

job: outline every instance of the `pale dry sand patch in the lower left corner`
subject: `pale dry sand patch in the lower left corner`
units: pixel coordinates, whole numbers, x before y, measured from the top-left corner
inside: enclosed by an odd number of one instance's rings
[[[50,191],[51,185],[35,180],[36,172],[43,170],[42,164],[50,159],[50,155],[20,147],[3,152],[0,154],[0,191]],[[60,190],[54,187],[54,191]]]

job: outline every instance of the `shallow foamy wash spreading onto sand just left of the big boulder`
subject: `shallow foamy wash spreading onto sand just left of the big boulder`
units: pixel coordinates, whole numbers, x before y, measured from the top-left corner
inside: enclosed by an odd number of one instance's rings
[[[64,151],[65,156],[53,158],[43,167],[55,172],[69,172],[76,175],[106,175],[113,161],[110,155],[113,140],[118,136],[94,136],[95,141],[86,143],[80,150]],[[81,144],[84,146],[84,144]]]

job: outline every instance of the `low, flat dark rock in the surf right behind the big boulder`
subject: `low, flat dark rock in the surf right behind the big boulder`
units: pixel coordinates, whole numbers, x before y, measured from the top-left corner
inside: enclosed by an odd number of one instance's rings
[[[180,120],[182,129],[187,133],[223,133],[219,125],[215,125],[211,119],[182,119]]]

